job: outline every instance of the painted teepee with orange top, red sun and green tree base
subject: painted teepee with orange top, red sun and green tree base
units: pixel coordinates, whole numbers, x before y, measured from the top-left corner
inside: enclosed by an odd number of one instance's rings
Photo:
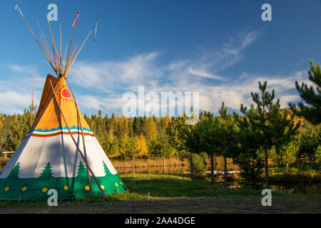
[[[49,28],[51,31],[50,24]],[[0,200],[46,200],[50,189],[58,192],[58,199],[107,199],[108,194],[126,192],[121,177],[78,110],[66,78],[83,45],[71,51],[72,36],[68,56],[66,48],[62,61],[61,45],[59,53],[52,32],[52,52],[42,31],[40,35],[43,46],[34,38],[57,77],[48,74],[36,120],[0,174]]]

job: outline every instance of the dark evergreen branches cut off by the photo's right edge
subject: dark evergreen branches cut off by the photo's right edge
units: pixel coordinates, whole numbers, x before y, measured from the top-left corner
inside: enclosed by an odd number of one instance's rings
[[[321,70],[319,63],[317,67],[315,67],[313,61],[310,63],[311,69],[308,71],[309,80],[315,84],[317,91],[315,91],[313,86],[308,87],[307,83],[302,83],[300,86],[299,83],[295,81],[297,92],[306,104],[303,102],[297,103],[299,110],[297,110],[295,104],[289,103],[289,105],[296,115],[303,116],[312,124],[318,125],[321,123]]]

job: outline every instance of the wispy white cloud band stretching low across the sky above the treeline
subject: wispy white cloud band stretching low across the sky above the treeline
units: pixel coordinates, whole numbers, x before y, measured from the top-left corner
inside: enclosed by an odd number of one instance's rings
[[[138,86],[145,86],[146,93],[199,92],[201,110],[216,113],[223,101],[227,107],[238,110],[240,103],[253,103],[250,92],[258,91],[258,81],[268,81],[268,88],[275,89],[282,107],[286,107],[288,102],[300,99],[295,92],[294,81],[306,81],[306,71],[280,75],[243,72],[236,78],[225,77],[221,73],[245,58],[243,50],[257,41],[260,35],[260,30],[239,33],[237,37],[229,38],[218,50],[202,51],[198,56],[169,61],[163,65],[159,63],[159,51],[140,53],[123,61],[78,61],[71,68],[68,78],[73,86],[81,88],[75,91],[75,95],[81,110],[86,113],[96,113],[99,109],[105,112],[121,110],[126,103],[122,100],[123,93],[137,93]],[[0,112],[28,107],[31,99],[33,67],[8,67],[19,75],[19,81],[16,78],[15,81],[10,78],[0,81],[3,88]],[[44,77],[36,75],[35,100],[40,100],[44,80]],[[86,95],[79,92],[83,88],[86,89]]]

